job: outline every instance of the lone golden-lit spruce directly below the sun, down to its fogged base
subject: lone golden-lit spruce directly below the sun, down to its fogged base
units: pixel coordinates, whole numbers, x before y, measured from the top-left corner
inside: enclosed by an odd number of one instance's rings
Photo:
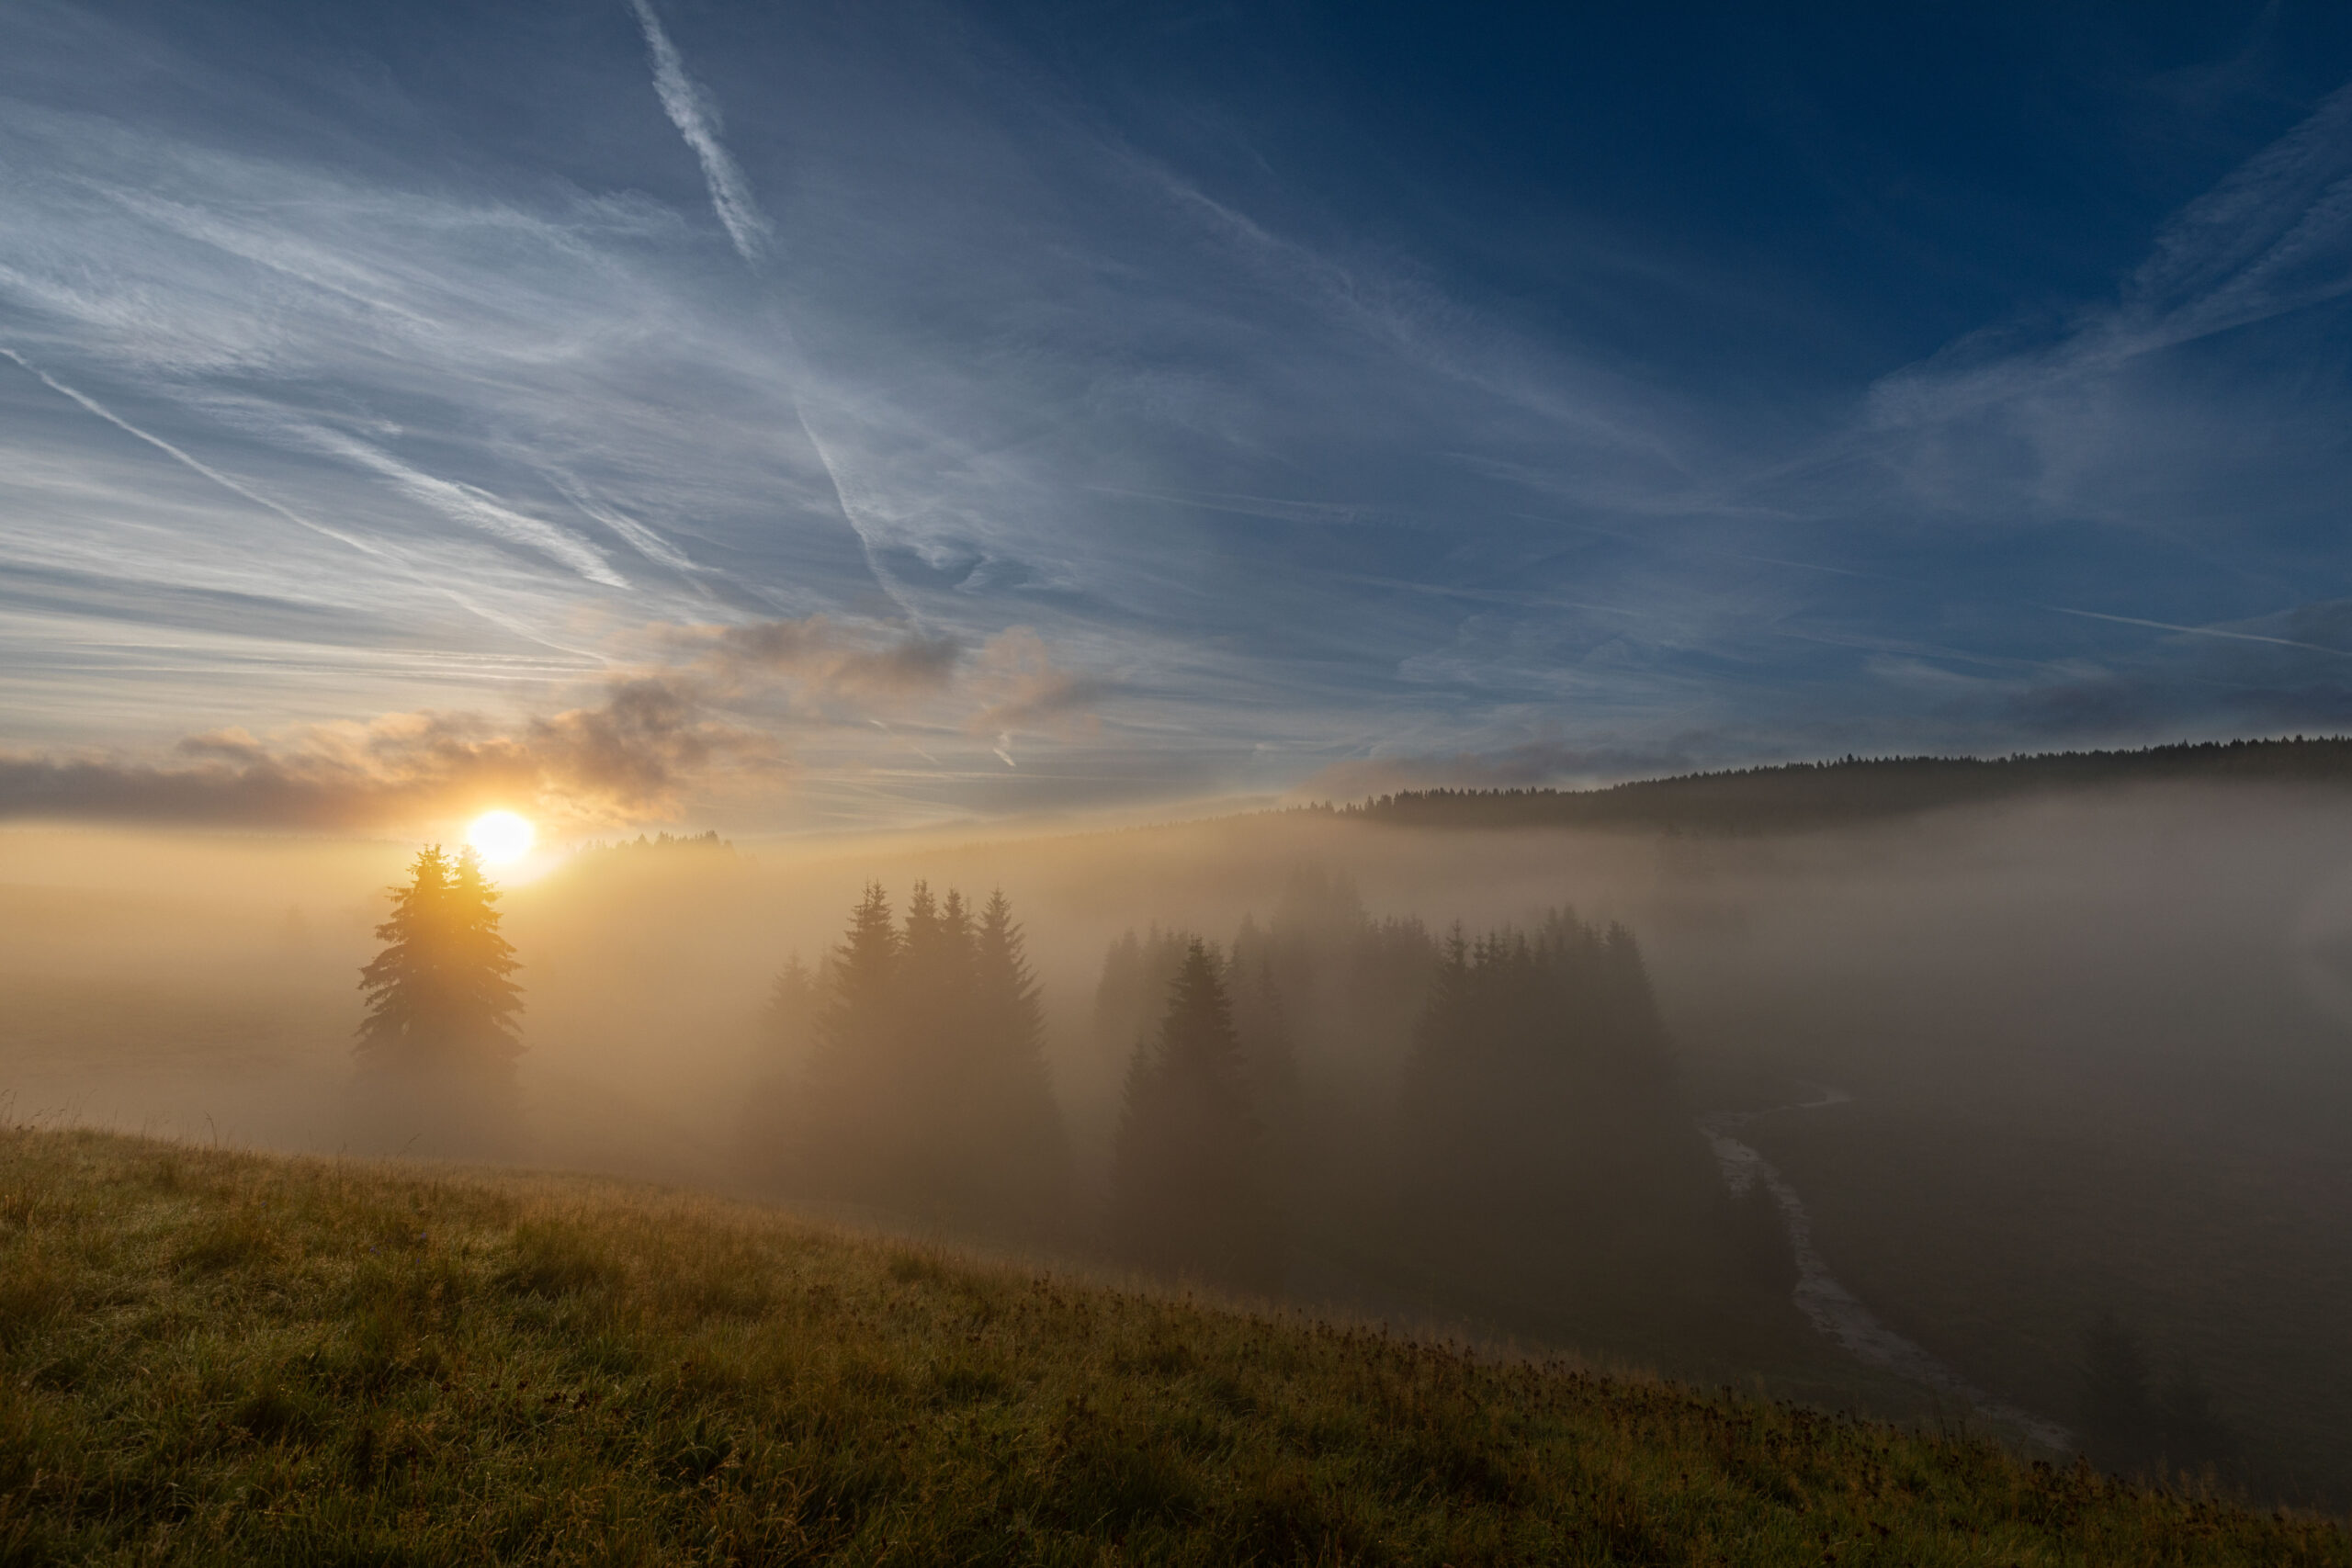
[[[376,926],[386,947],[360,969],[367,1018],[358,1056],[372,1086],[372,1131],[407,1126],[426,1152],[492,1152],[513,1133],[522,1053],[520,964],[499,936],[499,889],[470,849],[449,856],[433,844],[390,898],[393,912]]]

